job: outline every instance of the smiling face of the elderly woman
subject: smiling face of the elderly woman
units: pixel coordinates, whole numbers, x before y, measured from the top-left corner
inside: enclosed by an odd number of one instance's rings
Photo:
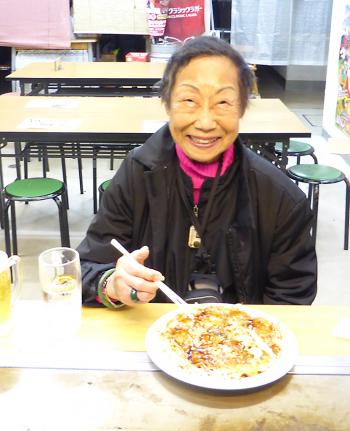
[[[217,160],[238,135],[238,71],[226,57],[192,59],[180,69],[167,108],[177,145],[192,160]]]

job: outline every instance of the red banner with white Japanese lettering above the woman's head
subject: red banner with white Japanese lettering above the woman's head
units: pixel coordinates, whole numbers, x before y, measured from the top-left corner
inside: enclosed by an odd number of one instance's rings
[[[183,41],[204,31],[204,0],[169,0],[165,36]]]

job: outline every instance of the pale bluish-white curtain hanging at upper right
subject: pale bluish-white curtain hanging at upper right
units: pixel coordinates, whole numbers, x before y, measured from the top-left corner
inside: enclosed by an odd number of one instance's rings
[[[248,63],[327,64],[332,0],[232,0],[231,44]]]

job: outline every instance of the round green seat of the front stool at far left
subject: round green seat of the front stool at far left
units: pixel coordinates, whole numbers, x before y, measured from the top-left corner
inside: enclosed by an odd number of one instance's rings
[[[13,198],[41,200],[48,199],[48,196],[59,193],[62,187],[62,181],[54,178],[27,178],[8,184],[5,187],[5,192]]]

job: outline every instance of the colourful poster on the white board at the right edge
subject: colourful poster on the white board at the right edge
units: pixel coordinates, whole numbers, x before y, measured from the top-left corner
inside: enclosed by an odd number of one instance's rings
[[[339,49],[338,98],[336,125],[350,136],[350,2],[345,5],[345,15]]]

